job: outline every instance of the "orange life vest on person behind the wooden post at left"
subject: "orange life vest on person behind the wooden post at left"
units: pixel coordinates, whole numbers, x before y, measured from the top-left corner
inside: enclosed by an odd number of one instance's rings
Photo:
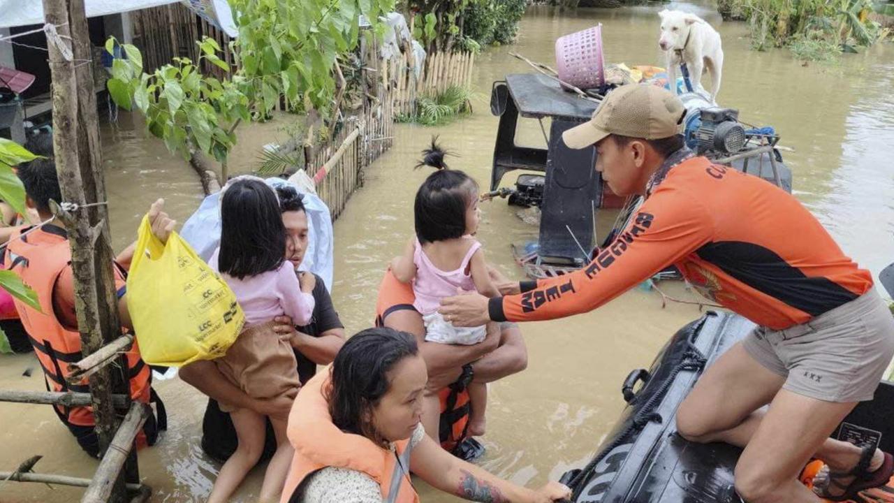
[[[38,356],[38,362],[44,370],[47,388],[53,391],[89,393],[87,379],[83,379],[77,384],[68,384],[65,380],[71,373],[69,365],[81,359],[80,333],[64,328],[56,318],[53,309],[53,290],[56,279],[72,261],[68,238],[63,232],[46,231],[45,226],[17,239],[21,232],[27,230],[28,228],[23,228],[10,238],[6,249],[5,263],[9,269],[21,277],[25,285],[30,286],[37,294],[40,311],[13,298],[16,310],[19,311],[21,323],[28,332],[31,345],[34,346],[34,352]],[[131,398],[149,403],[151,371],[139,357],[137,341],[133,342],[133,346],[126,356],[127,375],[131,382]],[[77,426],[94,425],[92,407],[65,407],[63,405],[55,407],[56,413],[63,422]],[[159,406],[159,427],[162,423],[162,410],[163,408]],[[154,435],[152,436],[154,437]],[[138,445],[145,443],[145,438],[138,440]]]

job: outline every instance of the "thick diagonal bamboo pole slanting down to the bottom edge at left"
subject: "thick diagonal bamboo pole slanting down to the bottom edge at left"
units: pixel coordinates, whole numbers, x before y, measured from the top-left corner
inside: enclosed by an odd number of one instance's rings
[[[131,404],[131,410],[124,416],[112,443],[102,456],[97,473],[84,492],[84,497],[80,499],[81,503],[105,503],[109,500],[114,490],[114,481],[131,454],[133,439],[137,437],[150,413],[151,408],[147,404]]]

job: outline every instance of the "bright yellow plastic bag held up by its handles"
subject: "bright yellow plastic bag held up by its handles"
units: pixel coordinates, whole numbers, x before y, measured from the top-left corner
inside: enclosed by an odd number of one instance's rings
[[[245,313],[221,277],[179,234],[162,244],[148,217],[139,225],[127,305],[147,363],[179,367],[213,360],[239,336]]]

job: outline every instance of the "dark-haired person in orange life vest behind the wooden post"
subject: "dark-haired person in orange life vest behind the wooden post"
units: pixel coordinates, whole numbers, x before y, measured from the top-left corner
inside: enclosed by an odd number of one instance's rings
[[[72,254],[68,236],[49,209],[49,200],[62,200],[54,161],[52,158],[38,158],[20,166],[18,175],[25,187],[26,205],[37,209],[40,220],[46,223],[37,228],[19,227],[7,243],[4,257],[6,268],[13,270],[25,285],[34,290],[40,310],[18,299],[14,300],[15,307],[46,376],[46,388],[52,391],[87,393],[87,379],[77,384],[67,382],[71,373],[69,365],[81,359],[81,346],[74,308]],[[122,323],[124,328],[132,329],[123,297],[125,271],[117,264],[115,281]],[[166,428],[164,405],[151,388],[151,370],[140,359],[136,341],[124,354],[124,359],[127,367],[119,371],[122,371],[122,377],[130,383],[131,399],[156,403],[157,417],[150,416],[137,437],[138,447],[153,445],[158,431]],[[90,456],[99,455],[98,440],[93,431],[95,422],[92,407],[55,405],[55,413],[72,431],[81,448]]]

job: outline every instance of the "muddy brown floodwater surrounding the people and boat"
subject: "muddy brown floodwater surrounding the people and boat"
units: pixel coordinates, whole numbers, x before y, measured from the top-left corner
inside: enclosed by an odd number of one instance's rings
[[[514,46],[496,47],[477,58],[474,86],[479,98],[473,115],[443,127],[395,128],[393,148],[367,169],[365,186],[335,224],[333,298],[349,333],[371,324],[384,264],[411,236],[413,195],[427,175],[411,168],[429,137],[440,134],[443,144],[460,154],[451,166],[486,186],[497,124],[487,107],[491,82],[528,71],[508,53],[518,51],[552,64],[555,38],[602,22],[607,61],[661,65],[656,13],[665,6],[565,14],[532,9]],[[716,13],[689,7],[718,26],[723,38],[721,105],[740,109],[748,123],[776,127],[782,143],[795,149],[785,157],[797,197],[848,254],[877,276],[894,260],[894,47],[880,44],[832,66],[802,66],[784,50],[750,50],[744,24],[721,23]],[[260,146],[284,139],[289,123],[288,116],[277,116],[271,123],[243,127],[233,169],[249,171]],[[527,126],[522,141],[542,144],[539,125]],[[122,113],[117,124],[104,125],[103,144],[116,249],[135,238],[139,218],[157,197],[168,201],[181,222],[198,207],[196,175],[160,141],[146,138],[138,118]],[[503,183],[514,180],[509,175]],[[503,200],[485,204],[479,231],[488,260],[510,277],[520,276],[510,243],[536,236],[536,226],[524,223],[518,212]],[[747,217],[747,209],[742,215]],[[600,215],[600,236],[613,217],[611,212]],[[695,298],[679,283],[663,288]],[[667,338],[698,315],[691,305],[671,303],[662,309],[657,293],[635,288],[598,311],[524,325],[527,371],[491,387],[483,438],[487,454],[480,464],[532,486],[585,464],[623,407],[621,380],[631,369],[648,366]],[[33,371],[30,377],[22,376],[26,369]],[[34,357],[0,356],[0,387],[43,389]],[[140,474],[154,490],[153,501],[204,499],[219,469],[198,446],[204,397],[179,379],[157,388],[167,404],[169,431],[156,447],[140,452]],[[80,451],[49,407],[2,404],[0,424],[0,470],[42,454],[38,472],[92,475],[96,462]],[[261,475],[253,472],[234,500],[252,500]],[[426,501],[456,500],[424,482],[417,482],[417,488]],[[77,489],[8,482],[0,487],[0,502],[63,502],[80,499],[80,494]]]

